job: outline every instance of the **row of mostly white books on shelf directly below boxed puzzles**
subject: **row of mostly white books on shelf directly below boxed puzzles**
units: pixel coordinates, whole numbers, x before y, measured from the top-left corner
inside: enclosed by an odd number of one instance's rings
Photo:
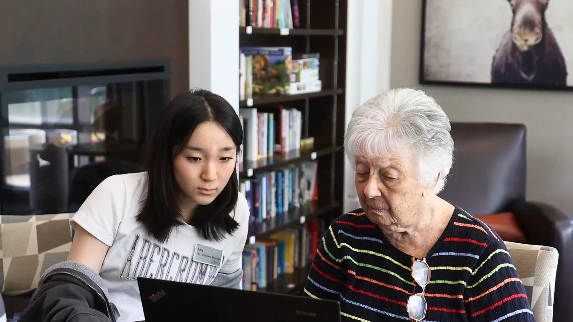
[[[298,109],[279,107],[274,112],[259,112],[257,108],[240,108],[239,115],[243,124],[244,160],[300,150],[303,116]]]

